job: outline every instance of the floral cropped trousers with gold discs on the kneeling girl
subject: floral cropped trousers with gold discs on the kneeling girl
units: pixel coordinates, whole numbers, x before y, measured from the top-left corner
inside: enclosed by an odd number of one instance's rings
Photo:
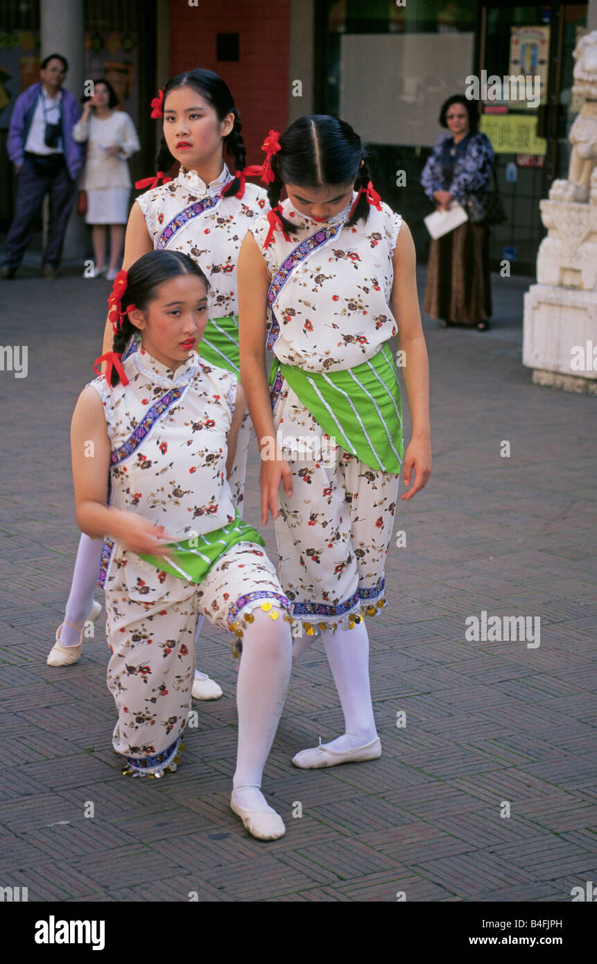
[[[139,590],[131,593],[131,576],[149,564],[130,552],[122,552],[120,562],[106,591],[112,654],[107,683],[119,714],[112,744],[133,770],[159,769],[174,759],[187,723],[199,615],[238,642],[251,609],[289,612],[288,601],[272,563],[255,543],[237,543],[200,584],[163,574],[159,593],[150,592],[147,602]]]

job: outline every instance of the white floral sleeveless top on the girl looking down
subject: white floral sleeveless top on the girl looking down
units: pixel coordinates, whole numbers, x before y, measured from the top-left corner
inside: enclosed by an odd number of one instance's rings
[[[371,359],[397,332],[390,308],[393,251],[402,223],[381,202],[369,205],[366,223],[345,226],[356,192],[326,222],[301,214],[287,199],[285,218],[296,226],[291,240],[269,230],[260,217],[249,230],[272,281],[267,298],[267,347],[280,362],[312,371],[354,368]]]

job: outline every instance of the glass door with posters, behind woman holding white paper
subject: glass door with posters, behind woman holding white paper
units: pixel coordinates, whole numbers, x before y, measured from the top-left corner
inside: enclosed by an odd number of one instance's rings
[[[492,258],[507,259],[524,274],[534,274],[545,233],[539,201],[554,178],[567,173],[567,134],[579,109],[571,92],[572,51],[586,10],[585,3],[523,6],[508,0],[480,10],[480,129],[496,151],[508,215],[492,230]]]

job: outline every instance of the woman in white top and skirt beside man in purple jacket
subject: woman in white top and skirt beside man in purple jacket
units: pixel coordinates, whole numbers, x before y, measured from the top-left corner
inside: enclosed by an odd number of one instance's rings
[[[81,189],[87,191],[85,221],[92,226],[95,278],[114,281],[124,242],[131,180],[127,159],[140,150],[135,125],[118,110],[118,97],[107,80],[94,81],[94,93],[83,98],[83,114],[72,136],[87,143]],[[106,268],[107,229],[110,228],[110,263]]]

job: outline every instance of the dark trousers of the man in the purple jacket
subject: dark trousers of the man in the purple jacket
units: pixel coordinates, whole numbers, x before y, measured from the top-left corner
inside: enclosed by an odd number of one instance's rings
[[[46,194],[50,196],[49,220],[41,262],[52,267],[60,262],[76,181],[68,174],[64,155],[58,155],[52,167],[43,166],[35,158],[36,155],[25,154],[18,174],[14,218],[6,239],[3,267],[17,268],[21,263]]]

